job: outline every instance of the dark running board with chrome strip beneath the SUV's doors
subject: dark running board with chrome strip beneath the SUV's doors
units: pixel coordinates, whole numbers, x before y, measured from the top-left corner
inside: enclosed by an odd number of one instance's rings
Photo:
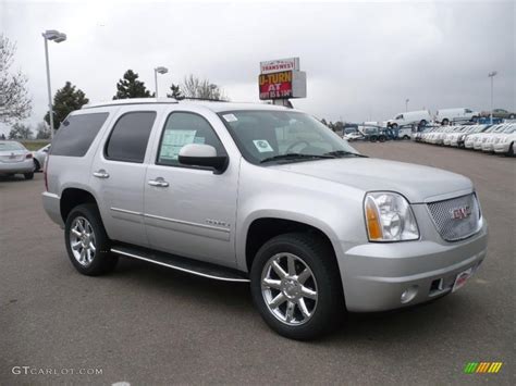
[[[241,283],[250,282],[249,278],[246,277],[245,273],[237,270],[232,270],[198,260],[180,258],[174,254],[155,251],[147,248],[118,245],[111,248],[111,252],[127,258],[148,261],[149,263],[167,266],[169,269],[191,273],[197,276],[212,278],[216,281]]]

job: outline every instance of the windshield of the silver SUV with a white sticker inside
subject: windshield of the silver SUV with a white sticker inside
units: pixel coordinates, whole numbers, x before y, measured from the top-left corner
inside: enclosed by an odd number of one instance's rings
[[[246,110],[219,115],[242,155],[255,164],[269,160],[298,162],[358,154],[328,126],[305,113]]]

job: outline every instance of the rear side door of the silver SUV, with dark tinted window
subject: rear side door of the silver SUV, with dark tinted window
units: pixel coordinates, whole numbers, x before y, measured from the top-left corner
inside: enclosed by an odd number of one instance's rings
[[[145,157],[156,116],[152,110],[122,108],[103,146],[97,150],[90,186],[113,240],[148,245],[143,220]]]

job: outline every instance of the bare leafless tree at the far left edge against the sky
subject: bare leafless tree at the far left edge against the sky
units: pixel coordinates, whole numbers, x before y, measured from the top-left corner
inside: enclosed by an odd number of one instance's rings
[[[27,91],[27,77],[10,72],[16,45],[0,34],[0,122],[11,124],[28,117],[32,100]]]

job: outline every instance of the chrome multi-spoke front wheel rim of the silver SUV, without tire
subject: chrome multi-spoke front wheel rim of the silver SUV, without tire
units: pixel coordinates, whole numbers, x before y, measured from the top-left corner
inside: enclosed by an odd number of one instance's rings
[[[317,282],[308,265],[292,253],[277,253],[261,272],[261,295],[269,311],[287,325],[310,320],[317,307]]]

